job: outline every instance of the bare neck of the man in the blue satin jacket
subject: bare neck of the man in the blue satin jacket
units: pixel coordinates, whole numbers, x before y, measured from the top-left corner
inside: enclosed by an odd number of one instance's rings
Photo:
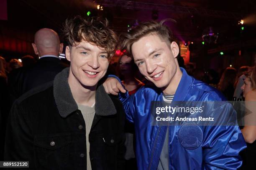
[[[164,95],[174,95],[179,86],[179,82],[181,78],[182,78],[182,71],[178,67],[176,73],[172,77],[170,84],[167,87],[162,88]]]

